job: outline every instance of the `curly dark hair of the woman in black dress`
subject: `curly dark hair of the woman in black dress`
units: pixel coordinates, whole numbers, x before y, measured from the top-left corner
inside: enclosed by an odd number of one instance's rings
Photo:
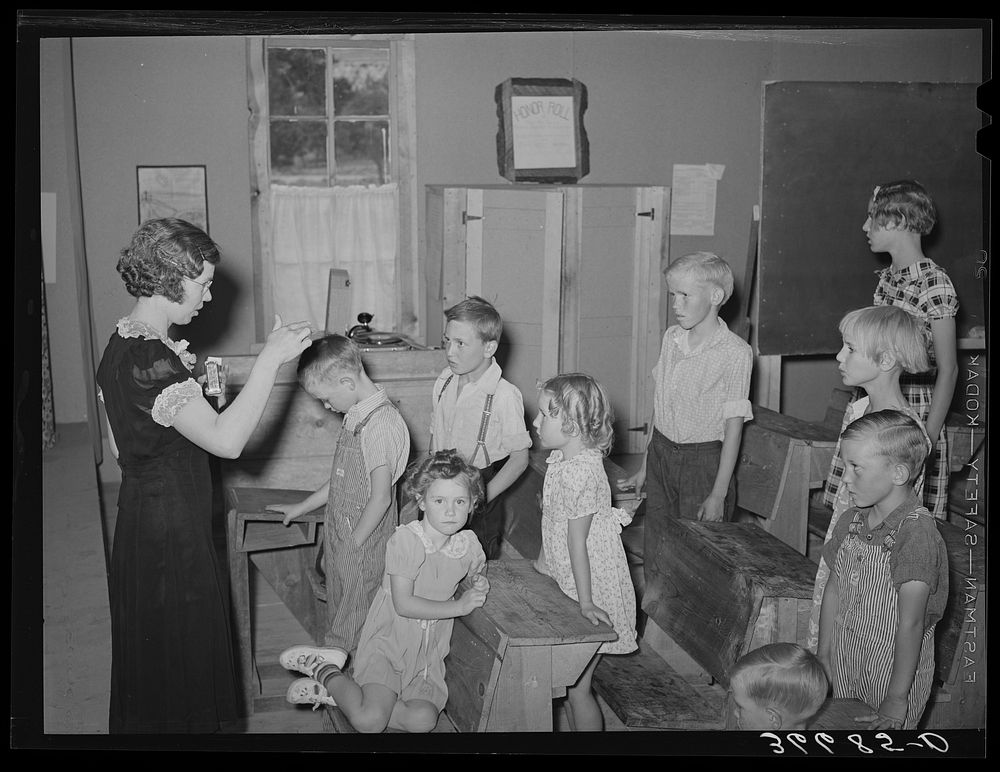
[[[162,295],[180,303],[183,277],[198,278],[206,261],[219,262],[219,247],[208,234],[187,220],[165,217],[139,226],[116,268],[133,297]]]

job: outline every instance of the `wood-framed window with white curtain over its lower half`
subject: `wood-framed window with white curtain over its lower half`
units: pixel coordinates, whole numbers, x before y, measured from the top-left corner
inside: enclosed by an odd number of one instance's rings
[[[419,337],[409,36],[251,38],[256,338],[275,312]],[[327,325],[327,276],[351,309]]]

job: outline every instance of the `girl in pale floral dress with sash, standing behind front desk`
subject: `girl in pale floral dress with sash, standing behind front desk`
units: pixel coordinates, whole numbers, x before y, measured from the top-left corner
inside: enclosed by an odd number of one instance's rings
[[[593,624],[618,633],[602,643],[580,679],[567,690],[569,720],[577,731],[600,731],[604,719],[591,691],[602,654],[638,648],[635,589],[622,546],[632,516],[611,506],[603,457],[611,447],[613,413],[603,387],[589,375],[557,375],[542,384],[534,427],[552,453],[542,489],[542,554],[535,567],[580,604]]]

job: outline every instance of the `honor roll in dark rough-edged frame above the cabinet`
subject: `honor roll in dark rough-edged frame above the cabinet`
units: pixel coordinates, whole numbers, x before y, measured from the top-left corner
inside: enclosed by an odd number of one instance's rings
[[[496,87],[497,166],[511,182],[576,182],[590,171],[587,87],[576,79],[508,78]]]

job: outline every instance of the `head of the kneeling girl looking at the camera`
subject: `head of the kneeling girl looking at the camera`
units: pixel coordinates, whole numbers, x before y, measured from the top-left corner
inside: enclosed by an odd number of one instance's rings
[[[454,449],[439,450],[411,465],[406,490],[417,500],[425,525],[447,536],[465,526],[485,497],[479,470]]]

